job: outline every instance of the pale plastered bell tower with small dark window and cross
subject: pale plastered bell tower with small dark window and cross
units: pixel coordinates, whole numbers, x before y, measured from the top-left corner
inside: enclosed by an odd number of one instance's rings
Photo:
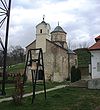
[[[50,40],[50,25],[44,21],[36,26],[36,48],[42,48],[46,52],[46,39]]]

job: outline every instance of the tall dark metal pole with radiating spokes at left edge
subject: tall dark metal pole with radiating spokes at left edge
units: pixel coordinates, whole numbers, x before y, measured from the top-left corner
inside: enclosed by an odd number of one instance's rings
[[[6,15],[6,17],[0,22],[2,26],[2,24],[4,23],[4,20],[7,18],[7,25],[6,25],[6,36],[5,36],[5,45],[3,47],[4,50],[4,62],[3,62],[3,80],[2,80],[2,95],[5,95],[5,81],[6,81],[6,60],[7,60],[7,45],[8,45],[8,33],[9,33],[9,19],[10,19],[10,9],[11,9],[11,0],[9,0],[8,3],[8,7],[7,7],[7,3],[4,0],[0,0],[0,2],[2,3],[3,7],[0,7],[0,9],[4,12],[1,16],[3,16],[4,14]],[[2,45],[2,44],[1,44]],[[2,45],[3,46],[3,45]]]

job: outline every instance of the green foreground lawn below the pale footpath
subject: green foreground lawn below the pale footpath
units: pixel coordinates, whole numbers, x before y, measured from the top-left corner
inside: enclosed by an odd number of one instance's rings
[[[36,96],[34,104],[31,97],[23,99],[21,105],[12,101],[0,103],[1,110],[95,110],[100,105],[100,91],[86,88],[66,87]],[[100,110],[100,109],[98,109]]]

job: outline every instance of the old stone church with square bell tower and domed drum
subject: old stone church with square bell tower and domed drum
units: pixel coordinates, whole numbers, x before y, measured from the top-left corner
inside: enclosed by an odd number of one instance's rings
[[[69,65],[70,67],[75,65],[76,54],[71,51],[73,57],[69,59],[70,52],[66,42],[67,33],[59,24],[53,31],[50,32],[50,29],[50,25],[43,18],[43,21],[36,26],[36,40],[26,46],[26,54],[29,49],[42,48],[45,79],[61,82],[70,76]],[[27,71],[27,76],[31,80],[29,71]]]

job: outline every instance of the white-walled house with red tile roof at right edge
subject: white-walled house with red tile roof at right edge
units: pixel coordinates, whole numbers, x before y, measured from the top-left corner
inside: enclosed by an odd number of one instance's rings
[[[96,43],[89,50],[91,52],[91,76],[92,79],[100,78],[100,35],[95,38]]]

